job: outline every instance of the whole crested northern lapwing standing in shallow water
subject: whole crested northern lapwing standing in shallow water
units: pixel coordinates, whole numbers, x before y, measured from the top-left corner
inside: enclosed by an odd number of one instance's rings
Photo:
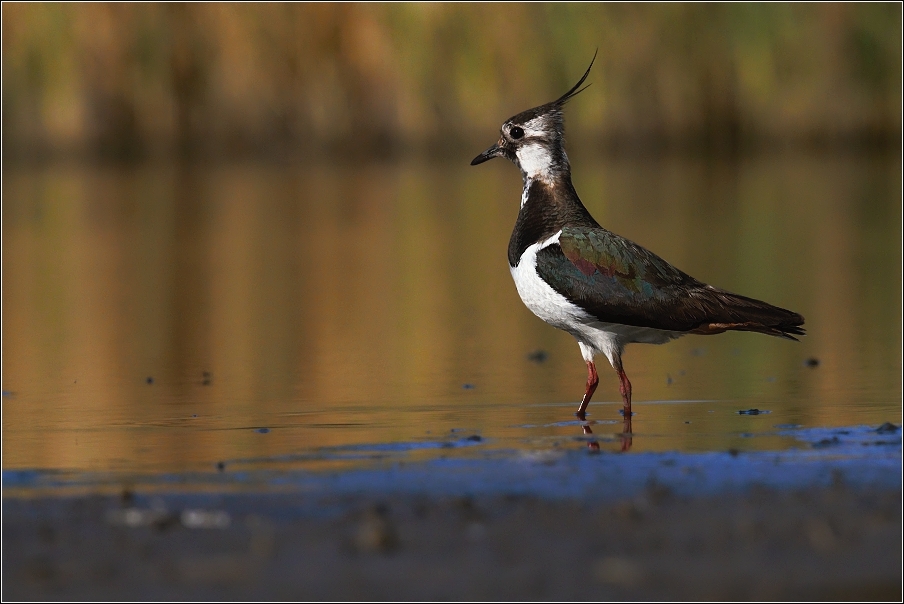
[[[587,387],[576,415],[585,419],[599,382],[593,359],[602,353],[618,374],[627,426],[631,382],[621,360],[627,344],[729,330],[796,340],[804,318],[697,281],[593,219],[571,183],[562,115],[584,90],[593,60],[561,97],[507,119],[499,141],[471,165],[505,157],[521,170],[521,210],[508,248],[515,287],[531,312],[578,341]]]

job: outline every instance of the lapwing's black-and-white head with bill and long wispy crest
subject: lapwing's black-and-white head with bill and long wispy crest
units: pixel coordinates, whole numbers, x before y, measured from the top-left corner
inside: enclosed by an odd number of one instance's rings
[[[590,74],[594,60],[596,53],[578,83],[561,97],[505,120],[499,141],[475,157],[471,165],[482,164],[494,157],[505,157],[521,169],[525,179],[551,180],[556,174],[568,171],[562,108],[584,90],[581,84]]]

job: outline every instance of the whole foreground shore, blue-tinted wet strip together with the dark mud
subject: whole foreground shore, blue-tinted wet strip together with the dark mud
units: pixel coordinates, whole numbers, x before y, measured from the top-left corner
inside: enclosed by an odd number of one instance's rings
[[[781,452],[490,449],[335,472],[5,471],[2,595],[900,600],[900,430],[806,438]]]

